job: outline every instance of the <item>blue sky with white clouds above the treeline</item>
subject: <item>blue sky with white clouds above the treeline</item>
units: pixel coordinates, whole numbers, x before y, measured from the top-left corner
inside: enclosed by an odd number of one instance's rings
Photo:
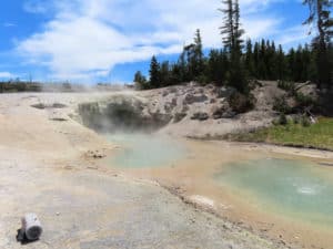
[[[309,41],[301,0],[240,0],[245,38],[285,49]],[[153,54],[175,60],[201,29],[221,46],[220,0],[10,0],[0,2],[0,80],[131,82]]]

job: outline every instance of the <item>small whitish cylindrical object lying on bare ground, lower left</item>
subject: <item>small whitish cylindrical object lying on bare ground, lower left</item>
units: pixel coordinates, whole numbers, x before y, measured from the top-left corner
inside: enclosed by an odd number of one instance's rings
[[[27,214],[22,218],[22,232],[29,240],[38,240],[42,234],[41,222],[36,214]]]

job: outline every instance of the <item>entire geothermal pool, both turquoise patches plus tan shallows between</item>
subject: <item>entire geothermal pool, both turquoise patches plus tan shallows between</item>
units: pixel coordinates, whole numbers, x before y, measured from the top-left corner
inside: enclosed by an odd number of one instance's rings
[[[259,227],[262,221],[275,222],[281,228],[276,227],[278,235],[295,231],[304,239],[309,232],[312,239],[317,235],[331,238],[333,167],[246,145],[143,133],[103,136],[120,145],[108,158],[108,164],[119,170],[164,186],[181,186],[188,197],[208,197],[218,211],[236,220],[244,218]],[[289,230],[284,227],[287,225],[294,227]]]

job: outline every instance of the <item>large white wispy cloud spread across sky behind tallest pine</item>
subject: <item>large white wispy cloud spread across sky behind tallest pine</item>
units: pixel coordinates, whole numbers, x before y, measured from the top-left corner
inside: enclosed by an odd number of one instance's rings
[[[271,2],[240,0],[249,37],[272,32],[281,20],[260,17]],[[48,3],[46,3],[48,2]],[[29,0],[24,9],[50,11],[51,1]],[[205,48],[221,46],[218,0],[54,0],[54,18],[44,30],[18,43],[17,51],[30,63],[44,65],[58,80],[91,81],[118,63],[147,60],[152,54],[181,51],[201,29]]]

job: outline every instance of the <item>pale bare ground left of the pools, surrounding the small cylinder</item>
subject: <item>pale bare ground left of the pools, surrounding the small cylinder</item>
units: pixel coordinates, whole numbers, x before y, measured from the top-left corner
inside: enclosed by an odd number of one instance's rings
[[[167,190],[153,178],[105,166],[102,158],[112,157],[120,147],[83,126],[78,106],[115,95],[0,95],[0,248],[22,247],[16,235],[26,212],[37,212],[43,225],[41,240],[26,248],[286,248],[282,239],[269,239],[243,222],[202,210],[200,204],[212,204],[204,196],[191,195],[182,201],[172,186]],[[143,103],[147,97],[134,92],[121,95]],[[142,118],[143,124],[153,118],[162,125],[167,118],[152,116]],[[210,125],[214,126],[212,121]],[[185,129],[174,126],[174,133],[168,126],[161,132],[174,135]],[[186,132],[198,134],[193,127]],[[330,153],[302,153],[333,158]]]

